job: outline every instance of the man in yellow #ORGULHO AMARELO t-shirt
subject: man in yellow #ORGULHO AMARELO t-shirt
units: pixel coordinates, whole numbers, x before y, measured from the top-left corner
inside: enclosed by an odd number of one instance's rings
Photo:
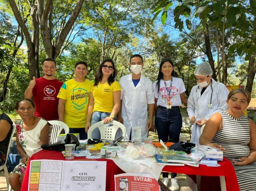
[[[79,133],[80,140],[87,139],[85,124],[92,83],[85,79],[86,62],[79,61],[74,68],[75,78],[63,83],[58,98],[59,120],[66,123],[69,133]]]

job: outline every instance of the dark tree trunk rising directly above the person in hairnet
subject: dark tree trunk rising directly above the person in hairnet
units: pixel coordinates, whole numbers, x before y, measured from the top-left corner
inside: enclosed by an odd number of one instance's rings
[[[208,29],[208,25],[205,25],[205,29],[204,29],[204,38],[205,38],[205,49],[206,49],[206,55],[208,58],[208,61],[211,65],[211,68],[213,70],[213,75],[212,78],[217,81],[217,76],[216,76],[216,70],[214,67],[214,60],[213,60],[213,55],[212,55],[212,50],[211,50],[211,42],[210,42],[210,35],[209,35],[209,29]]]

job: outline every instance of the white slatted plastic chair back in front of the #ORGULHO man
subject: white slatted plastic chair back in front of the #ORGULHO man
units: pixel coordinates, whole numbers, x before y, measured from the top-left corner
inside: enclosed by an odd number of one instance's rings
[[[48,121],[48,123],[50,123],[53,127],[51,132],[51,139],[50,139],[51,143],[57,142],[58,135],[60,135],[62,129],[64,129],[65,134],[69,133],[69,128],[67,124],[65,124],[64,122],[52,120],[52,121]]]

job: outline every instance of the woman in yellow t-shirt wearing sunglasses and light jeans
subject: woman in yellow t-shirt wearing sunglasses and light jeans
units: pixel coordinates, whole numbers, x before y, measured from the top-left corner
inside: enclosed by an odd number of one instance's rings
[[[95,75],[93,91],[90,95],[85,125],[86,133],[91,125],[99,121],[103,120],[104,124],[113,121],[119,111],[121,88],[119,83],[115,81],[115,75],[113,60],[104,59]],[[92,138],[100,139],[98,129],[92,132]]]

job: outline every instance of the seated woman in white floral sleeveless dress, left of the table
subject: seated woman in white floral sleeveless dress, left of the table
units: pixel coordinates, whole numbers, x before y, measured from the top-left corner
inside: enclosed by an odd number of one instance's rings
[[[30,99],[18,101],[15,111],[21,117],[16,125],[16,140],[22,160],[11,172],[9,182],[14,191],[19,191],[30,156],[41,150],[42,144],[49,143],[49,126],[47,121],[34,116],[35,105]]]

